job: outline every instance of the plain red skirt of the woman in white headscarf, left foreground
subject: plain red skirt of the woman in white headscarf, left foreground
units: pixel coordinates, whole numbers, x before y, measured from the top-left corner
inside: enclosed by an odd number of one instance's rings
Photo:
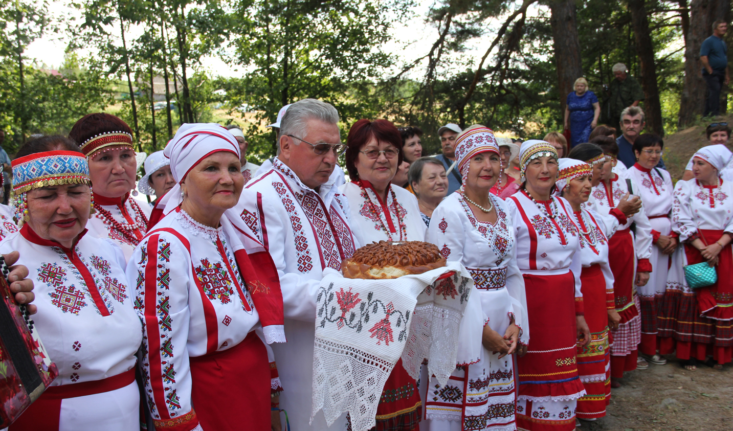
[[[270,365],[254,331],[235,347],[190,364],[191,401],[204,430],[270,431]]]

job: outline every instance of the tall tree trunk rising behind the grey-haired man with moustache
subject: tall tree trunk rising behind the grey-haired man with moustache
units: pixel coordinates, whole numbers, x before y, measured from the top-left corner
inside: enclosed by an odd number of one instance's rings
[[[641,68],[641,88],[644,89],[644,114],[647,128],[659,136],[664,136],[662,106],[659,101],[657,85],[657,66],[654,61],[654,46],[649,33],[649,19],[644,0],[630,0],[631,26],[634,29],[636,55]]]

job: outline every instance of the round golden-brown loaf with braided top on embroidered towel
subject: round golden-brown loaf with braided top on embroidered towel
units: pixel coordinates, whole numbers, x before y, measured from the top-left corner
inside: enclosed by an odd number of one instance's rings
[[[446,266],[435,244],[422,241],[380,241],[359,248],[341,265],[347,279],[397,279]]]

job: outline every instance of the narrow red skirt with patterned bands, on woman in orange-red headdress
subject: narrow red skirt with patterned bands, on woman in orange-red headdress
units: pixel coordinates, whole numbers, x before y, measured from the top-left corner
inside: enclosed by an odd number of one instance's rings
[[[605,277],[600,265],[583,268],[581,283],[591,342],[586,347],[578,347],[578,374],[586,395],[578,399],[575,411],[580,418],[600,418],[605,416],[605,406],[611,402],[611,375],[605,372],[611,355],[608,350],[608,312]]]

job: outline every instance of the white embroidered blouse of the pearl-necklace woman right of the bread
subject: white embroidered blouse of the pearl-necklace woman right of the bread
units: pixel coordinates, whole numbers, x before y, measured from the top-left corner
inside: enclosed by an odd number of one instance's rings
[[[490,195],[496,223],[478,221],[460,192],[454,192],[432,212],[425,240],[441,248],[449,262],[461,262],[479,291],[483,312],[494,331],[504,331],[509,317],[520,328],[520,342],[529,342],[524,279],[517,266],[517,242],[509,207]],[[504,328],[504,329],[502,329]]]

